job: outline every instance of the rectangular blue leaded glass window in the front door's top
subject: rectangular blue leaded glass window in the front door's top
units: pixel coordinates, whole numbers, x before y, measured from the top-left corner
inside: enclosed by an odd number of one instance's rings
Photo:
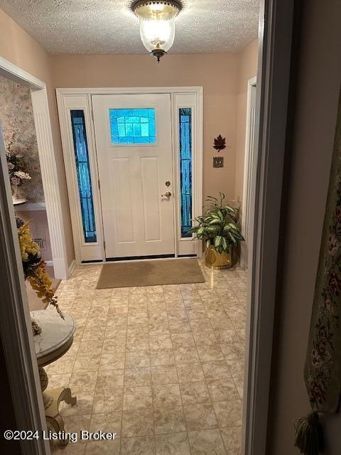
[[[109,109],[112,144],[155,144],[155,109]]]

